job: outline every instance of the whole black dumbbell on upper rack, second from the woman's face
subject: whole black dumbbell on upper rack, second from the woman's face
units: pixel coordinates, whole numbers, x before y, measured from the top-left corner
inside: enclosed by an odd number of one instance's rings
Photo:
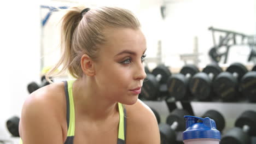
[[[167,88],[169,97],[175,100],[187,100],[191,93],[188,85],[190,78],[199,73],[199,69],[195,65],[184,65],[179,74],[173,74],[167,80]]]

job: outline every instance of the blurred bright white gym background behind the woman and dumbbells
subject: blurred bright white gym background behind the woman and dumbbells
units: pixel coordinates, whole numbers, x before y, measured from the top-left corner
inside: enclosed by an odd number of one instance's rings
[[[40,83],[42,71],[59,59],[58,22],[62,14],[54,9],[77,4],[117,6],[135,13],[147,39],[146,65],[149,70],[159,64],[168,66],[172,73],[178,73],[185,64],[194,64],[200,69],[212,62],[223,68],[234,62],[240,62],[248,69],[255,65],[255,0],[4,1],[0,9],[0,142],[17,143],[18,138],[7,129],[7,120],[20,117],[22,104],[30,94],[28,83]],[[228,33],[231,36],[225,37]],[[226,43],[229,51],[223,44],[225,38],[229,38]],[[161,117],[165,117],[165,109],[157,106],[158,103],[146,103],[161,109]],[[202,109],[208,105],[210,109],[215,104],[194,103],[193,106]],[[241,105],[241,109],[247,109],[247,105]],[[219,107],[220,111],[234,114],[231,108]],[[256,110],[256,107],[250,109]],[[203,112],[198,110],[197,114]],[[228,117],[232,118],[231,114]]]

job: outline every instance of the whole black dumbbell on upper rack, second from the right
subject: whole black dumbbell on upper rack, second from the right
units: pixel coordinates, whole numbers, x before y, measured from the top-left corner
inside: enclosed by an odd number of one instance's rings
[[[238,84],[247,72],[247,68],[241,63],[233,63],[225,72],[220,73],[213,82],[213,91],[217,97],[223,101],[236,100],[240,95]]]

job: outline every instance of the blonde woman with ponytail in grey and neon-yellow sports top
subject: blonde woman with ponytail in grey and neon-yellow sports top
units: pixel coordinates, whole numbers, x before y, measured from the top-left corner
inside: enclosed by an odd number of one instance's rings
[[[146,39],[126,9],[72,7],[62,19],[62,56],[49,73],[76,80],[33,92],[22,107],[24,144],[159,144],[154,113],[138,99]]]

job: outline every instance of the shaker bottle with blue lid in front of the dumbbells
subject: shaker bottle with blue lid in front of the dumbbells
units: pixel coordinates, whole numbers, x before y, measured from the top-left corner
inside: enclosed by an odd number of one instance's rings
[[[186,130],[183,131],[184,144],[219,144],[220,132],[211,118],[184,116]],[[198,122],[198,121],[201,122]]]

